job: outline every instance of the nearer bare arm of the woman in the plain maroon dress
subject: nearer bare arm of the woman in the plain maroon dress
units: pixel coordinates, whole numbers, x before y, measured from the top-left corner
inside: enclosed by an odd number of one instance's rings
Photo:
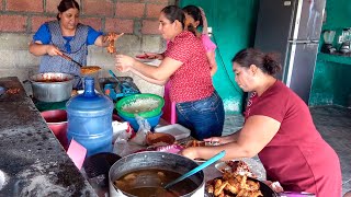
[[[190,159],[210,159],[222,150],[226,150],[223,160],[252,158],[273,139],[280,126],[281,123],[271,117],[251,116],[246,120],[237,141],[216,147],[192,147],[182,150],[181,154]]]

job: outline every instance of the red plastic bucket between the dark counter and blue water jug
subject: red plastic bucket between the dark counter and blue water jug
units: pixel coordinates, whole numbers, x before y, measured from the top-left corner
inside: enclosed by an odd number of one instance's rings
[[[64,109],[45,111],[41,113],[48,128],[52,129],[65,150],[68,149],[67,140],[67,112]]]

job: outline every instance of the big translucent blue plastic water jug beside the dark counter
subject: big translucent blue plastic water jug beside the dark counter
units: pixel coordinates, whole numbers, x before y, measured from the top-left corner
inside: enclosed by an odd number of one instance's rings
[[[84,92],[67,104],[67,139],[75,139],[87,150],[87,157],[112,152],[113,102],[94,91],[94,79],[84,79]]]

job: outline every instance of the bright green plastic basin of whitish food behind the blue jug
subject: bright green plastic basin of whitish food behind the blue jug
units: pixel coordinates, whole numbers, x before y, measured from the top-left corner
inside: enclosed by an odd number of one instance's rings
[[[148,111],[139,112],[139,113],[131,113],[131,112],[126,112],[123,109],[126,105],[132,105],[133,103],[135,103],[138,100],[147,100],[147,99],[158,101],[159,102],[158,106],[150,108]],[[118,115],[122,115],[124,117],[134,118],[134,115],[137,114],[140,117],[149,118],[149,117],[158,116],[162,112],[163,105],[165,105],[165,100],[163,100],[163,97],[161,97],[159,95],[156,95],[156,94],[134,94],[134,95],[125,96],[122,100],[120,100],[116,103],[115,108],[117,109]]]

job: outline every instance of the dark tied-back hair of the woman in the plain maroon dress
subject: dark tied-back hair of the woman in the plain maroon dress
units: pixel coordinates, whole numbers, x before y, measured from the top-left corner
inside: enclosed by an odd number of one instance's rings
[[[246,68],[249,68],[251,65],[256,65],[264,73],[270,76],[274,76],[281,70],[278,54],[264,54],[261,50],[253,48],[240,50],[235,55],[231,61]]]

